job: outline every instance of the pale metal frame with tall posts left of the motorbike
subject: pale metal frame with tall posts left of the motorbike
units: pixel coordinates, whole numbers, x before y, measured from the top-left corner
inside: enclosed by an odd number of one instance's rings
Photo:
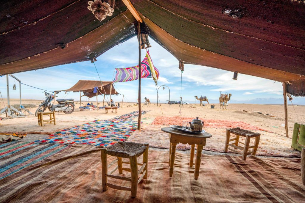
[[[7,111],[7,117],[10,118],[16,118],[16,117],[25,117],[26,114],[23,114],[20,110],[17,110],[16,108],[10,106],[9,104],[9,76],[11,76],[12,78],[16,79],[19,82],[19,100],[20,100],[20,104],[19,104],[19,109],[21,110],[22,106],[21,106],[21,81],[20,79],[16,78],[14,75],[6,75],[6,88],[7,88],[7,106],[4,107],[1,111],[0,114],[4,113]],[[25,110],[29,113],[29,115],[33,115],[33,113],[31,113],[29,110],[27,109],[22,109]]]

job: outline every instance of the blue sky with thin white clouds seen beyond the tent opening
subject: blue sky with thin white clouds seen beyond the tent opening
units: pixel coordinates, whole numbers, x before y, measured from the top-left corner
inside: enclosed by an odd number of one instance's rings
[[[180,100],[181,71],[178,69],[178,60],[163,47],[150,39],[152,45],[149,53],[156,68],[160,71],[158,85],[167,85],[170,88],[171,100]],[[142,50],[142,59],[145,57]],[[102,80],[111,81],[114,68],[125,68],[138,63],[138,41],[136,37],[113,47],[97,58],[95,65]],[[99,80],[93,63],[90,61],[60,65],[36,71],[14,74],[23,83],[50,91],[68,89],[78,80]],[[232,100],[245,101],[256,98],[282,99],[282,83],[258,78],[250,75],[238,75],[238,80],[232,80],[233,72],[199,65],[185,65],[182,73],[183,100],[195,102],[194,96],[207,96],[210,100],[218,100],[219,91],[232,94]],[[14,79],[10,81],[10,97],[19,97],[19,86],[13,90]],[[138,97],[138,81],[115,83],[118,92],[124,94],[125,101],[134,102]],[[25,99],[43,99],[42,90],[22,85],[22,97]],[[6,77],[0,78],[0,91],[6,98]],[[159,90],[160,100],[168,100],[168,90]],[[60,93],[59,98],[74,98],[79,100],[79,93]],[[157,93],[151,78],[142,79],[142,98],[148,97],[156,102]],[[113,96],[114,100],[121,101],[122,96]],[[95,100],[96,98],[92,98]],[[99,96],[99,101],[102,96]],[[297,103],[305,103],[304,98],[296,98]]]

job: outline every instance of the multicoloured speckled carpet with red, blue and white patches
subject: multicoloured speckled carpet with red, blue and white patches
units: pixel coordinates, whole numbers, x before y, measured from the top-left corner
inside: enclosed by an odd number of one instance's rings
[[[148,111],[142,111],[142,114]],[[35,142],[57,144],[87,144],[94,146],[109,146],[118,141],[125,141],[137,129],[138,111],[131,112],[102,121],[95,120],[86,124],[58,131]]]

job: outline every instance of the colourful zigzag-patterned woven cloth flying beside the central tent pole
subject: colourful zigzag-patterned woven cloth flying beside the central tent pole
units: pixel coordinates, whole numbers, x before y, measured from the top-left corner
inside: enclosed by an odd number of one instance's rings
[[[141,62],[142,76],[141,78],[152,78],[156,85],[159,78],[160,72],[153,65],[152,59],[150,58],[149,51],[146,52],[146,56]],[[153,71],[152,71],[153,70]],[[139,66],[132,66],[129,68],[116,68],[115,78],[113,82],[127,82],[139,79]]]

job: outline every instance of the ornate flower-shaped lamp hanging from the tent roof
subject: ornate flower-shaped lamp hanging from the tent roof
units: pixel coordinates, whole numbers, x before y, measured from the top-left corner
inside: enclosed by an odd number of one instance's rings
[[[89,1],[87,7],[100,22],[107,16],[112,16],[114,11],[114,0],[102,2],[101,0]]]

